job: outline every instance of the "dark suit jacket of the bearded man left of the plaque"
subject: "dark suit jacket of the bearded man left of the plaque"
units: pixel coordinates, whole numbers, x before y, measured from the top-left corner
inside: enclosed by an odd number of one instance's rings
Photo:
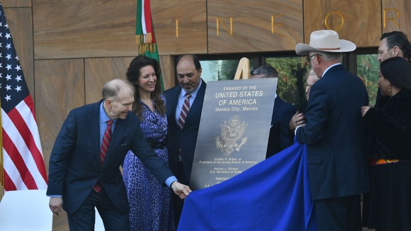
[[[194,159],[195,145],[197,143],[198,129],[200,126],[201,111],[203,110],[205,87],[206,84],[203,81],[194,102],[190,107],[183,130],[180,130],[180,127],[175,121],[175,110],[181,87],[175,86],[174,88],[171,88],[163,93],[167,102],[166,114],[169,128],[167,136],[167,149],[169,153],[169,166],[176,175],[178,167],[178,153],[181,148],[183,169],[189,182],[192,162]]]

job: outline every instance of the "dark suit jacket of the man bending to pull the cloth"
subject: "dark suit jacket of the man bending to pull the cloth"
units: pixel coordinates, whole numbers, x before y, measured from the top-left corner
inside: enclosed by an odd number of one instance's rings
[[[99,180],[114,205],[123,213],[128,200],[119,170],[128,150],[135,153],[160,183],[172,176],[170,169],[148,146],[140,120],[131,112],[117,119],[111,143],[100,166],[100,103],[70,111],[51,151],[47,195],[63,195],[63,208],[75,212]]]

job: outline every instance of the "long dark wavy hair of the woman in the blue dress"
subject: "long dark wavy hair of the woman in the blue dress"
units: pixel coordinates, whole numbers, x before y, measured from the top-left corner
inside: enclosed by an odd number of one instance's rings
[[[152,66],[157,76],[154,92],[151,92],[151,98],[153,98],[156,101],[154,108],[162,116],[166,113],[166,108],[164,106],[163,99],[161,98],[161,85],[159,79],[161,74],[160,65],[155,59],[151,59],[146,56],[137,56],[130,62],[130,65],[127,68],[126,77],[127,80],[130,81],[136,89],[134,93],[133,113],[137,115],[141,120],[144,120],[144,118],[142,118],[142,104],[140,103],[140,93],[139,86],[137,86],[137,82],[141,75],[140,70],[145,66]]]

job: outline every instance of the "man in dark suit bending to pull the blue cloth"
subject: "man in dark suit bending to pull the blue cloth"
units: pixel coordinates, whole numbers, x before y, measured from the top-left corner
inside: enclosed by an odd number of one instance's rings
[[[62,206],[67,212],[70,230],[94,230],[95,207],[106,230],[129,230],[119,167],[130,149],[181,199],[190,192],[145,141],[133,102],[131,83],[114,79],[104,85],[100,102],[71,110],[63,123],[51,151],[47,195],[53,213]]]

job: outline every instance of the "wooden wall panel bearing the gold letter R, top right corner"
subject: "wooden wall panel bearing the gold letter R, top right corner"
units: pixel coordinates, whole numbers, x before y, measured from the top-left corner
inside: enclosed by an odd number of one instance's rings
[[[384,27],[385,10],[385,27]],[[410,0],[382,0],[382,32],[403,31],[411,39]],[[390,19],[392,18],[392,19]]]

